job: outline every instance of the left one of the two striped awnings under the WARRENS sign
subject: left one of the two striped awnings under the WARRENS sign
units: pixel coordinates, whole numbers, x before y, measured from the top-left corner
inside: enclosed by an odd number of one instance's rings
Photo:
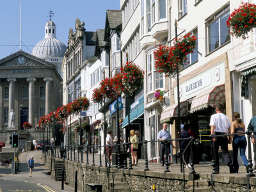
[[[188,115],[188,102],[184,100],[180,102],[180,116],[187,116]],[[170,122],[171,118],[174,116],[179,116],[178,114],[178,104],[173,104],[165,108],[161,114],[160,124],[165,122]]]

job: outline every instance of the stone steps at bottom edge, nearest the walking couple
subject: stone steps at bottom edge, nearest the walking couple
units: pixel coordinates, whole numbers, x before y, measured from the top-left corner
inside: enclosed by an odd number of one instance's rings
[[[186,191],[193,191],[193,180],[188,180]],[[208,180],[195,180],[195,192],[212,192],[212,187]]]

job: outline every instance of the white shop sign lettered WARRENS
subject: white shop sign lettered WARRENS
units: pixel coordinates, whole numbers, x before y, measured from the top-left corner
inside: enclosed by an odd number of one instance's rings
[[[202,88],[205,88],[210,84],[211,84],[211,74],[205,74],[204,76],[195,78],[193,79],[193,81],[189,81],[187,84],[184,84],[185,95],[189,95],[190,93],[196,92]]]

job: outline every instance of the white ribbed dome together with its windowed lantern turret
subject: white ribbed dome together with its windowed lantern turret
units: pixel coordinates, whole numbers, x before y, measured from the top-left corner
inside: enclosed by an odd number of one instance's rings
[[[45,24],[45,37],[33,48],[32,54],[38,58],[64,57],[66,45],[56,38],[56,26],[52,20]]]

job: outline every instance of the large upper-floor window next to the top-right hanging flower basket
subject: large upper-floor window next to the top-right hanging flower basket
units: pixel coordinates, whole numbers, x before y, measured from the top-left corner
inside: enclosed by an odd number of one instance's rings
[[[208,52],[214,51],[230,41],[227,27],[228,17],[229,5],[206,21]]]

